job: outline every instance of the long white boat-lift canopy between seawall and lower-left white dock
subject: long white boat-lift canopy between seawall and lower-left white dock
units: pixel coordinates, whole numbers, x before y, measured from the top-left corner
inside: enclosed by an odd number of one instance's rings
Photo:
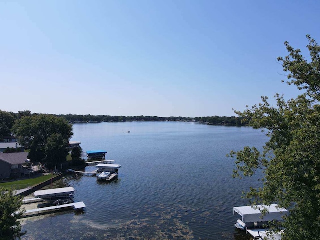
[[[72,199],[74,197],[73,187],[61,187],[55,189],[39,190],[34,192],[35,197],[39,197],[45,201],[56,201],[64,199]]]

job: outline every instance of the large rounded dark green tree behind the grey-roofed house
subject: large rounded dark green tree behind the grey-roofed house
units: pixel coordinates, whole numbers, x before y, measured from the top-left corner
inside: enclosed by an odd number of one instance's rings
[[[15,122],[12,131],[18,142],[30,149],[32,161],[52,161],[53,164],[65,160],[67,143],[73,135],[72,126],[64,118],[46,114],[26,115]]]

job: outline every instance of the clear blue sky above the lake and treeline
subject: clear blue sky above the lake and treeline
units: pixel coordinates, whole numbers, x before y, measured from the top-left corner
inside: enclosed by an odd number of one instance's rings
[[[276,58],[319,23],[315,0],[1,0],[0,109],[232,116],[298,93]]]

